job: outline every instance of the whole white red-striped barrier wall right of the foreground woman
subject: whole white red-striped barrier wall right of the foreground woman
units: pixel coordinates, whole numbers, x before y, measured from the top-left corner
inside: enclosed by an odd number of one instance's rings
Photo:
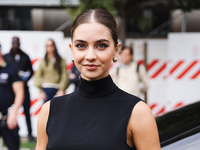
[[[177,33],[164,40],[127,40],[133,44],[136,61],[144,59],[147,43],[147,100],[155,116],[200,100],[199,39],[200,33]]]

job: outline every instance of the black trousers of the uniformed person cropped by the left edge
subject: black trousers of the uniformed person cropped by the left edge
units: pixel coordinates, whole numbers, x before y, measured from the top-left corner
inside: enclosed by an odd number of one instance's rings
[[[13,130],[9,130],[8,128],[0,128],[0,136],[3,137],[4,142],[9,150],[19,150],[20,137],[18,131],[18,126]]]

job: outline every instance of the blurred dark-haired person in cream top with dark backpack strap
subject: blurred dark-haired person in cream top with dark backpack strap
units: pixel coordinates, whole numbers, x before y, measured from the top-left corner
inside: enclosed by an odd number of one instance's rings
[[[132,47],[122,47],[120,60],[113,74],[114,82],[122,90],[140,97],[140,94],[148,89],[148,77],[144,65],[133,60]]]

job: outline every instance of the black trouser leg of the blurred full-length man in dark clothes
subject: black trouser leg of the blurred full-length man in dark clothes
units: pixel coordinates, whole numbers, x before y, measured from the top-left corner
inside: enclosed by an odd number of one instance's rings
[[[32,126],[31,126],[31,119],[30,119],[30,93],[29,93],[29,88],[28,86],[24,87],[24,103],[23,103],[23,108],[24,108],[24,113],[26,117],[26,125],[28,129],[28,135],[32,135]]]

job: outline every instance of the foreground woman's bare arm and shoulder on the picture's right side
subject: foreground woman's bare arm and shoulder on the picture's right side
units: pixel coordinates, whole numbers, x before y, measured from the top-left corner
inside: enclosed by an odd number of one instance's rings
[[[149,106],[138,102],[131,114],[128,130],[137,150],[160,150],[158,129]]]

